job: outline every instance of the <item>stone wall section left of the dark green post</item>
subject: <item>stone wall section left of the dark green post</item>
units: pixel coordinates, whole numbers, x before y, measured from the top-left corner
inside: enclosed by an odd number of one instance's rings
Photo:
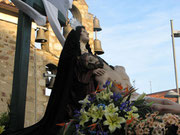
[[[7,110],[12,89],[16,29],[16,25],[0,21],[0,112]]]

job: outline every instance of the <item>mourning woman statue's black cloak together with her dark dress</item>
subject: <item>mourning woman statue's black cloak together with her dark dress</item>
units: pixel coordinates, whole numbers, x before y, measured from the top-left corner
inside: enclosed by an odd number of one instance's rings
[[[33,126],[15,132],[6,131],[4,135],[57,135],[60,127],[56,124],[70,118],[67,106],[72,111],[79,109],[78,101],[95,90],[92,71],[78,71],[77,56],[81,55],[79,36],[80,33],[72,30],[66,39],[44,117]],[[86,48],[91,53],[88,44]]]

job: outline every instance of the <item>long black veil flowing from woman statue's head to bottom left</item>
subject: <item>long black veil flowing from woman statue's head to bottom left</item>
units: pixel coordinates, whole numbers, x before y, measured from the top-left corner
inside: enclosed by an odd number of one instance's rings
[[[60,129],[56,124],[69,119],[66,107],[73,87],[73,68],[77,56],[81,55],[79,40],[82,28],[84,27],[78,26],[76,30],[72,30],[65,41],[44,117],[33,126],[13,133],[7,131],[4,135],[56,135]],[[89,44],[86,45],[86,48],[91,53]]]

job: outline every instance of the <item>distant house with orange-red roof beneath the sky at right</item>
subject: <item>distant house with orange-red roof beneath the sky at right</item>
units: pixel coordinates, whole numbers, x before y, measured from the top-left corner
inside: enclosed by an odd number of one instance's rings
[[[147,94],[147,96],[154,97],[154,98],[164,98],[164,99],[169,99],[169,100],[171,100],[173,102],[177,102],[177,98],[166,98],[166,97],[164,97],[166,95],[166,93],[171,91],[171,90],[174,91],[174,92],[177,92],[176,89],[170,89],[170,90],[165,90],[165,91],[160,91],[160,92]]]

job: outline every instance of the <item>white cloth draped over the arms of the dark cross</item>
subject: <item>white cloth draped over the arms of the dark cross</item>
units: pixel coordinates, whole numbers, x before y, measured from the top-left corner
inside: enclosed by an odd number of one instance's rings
[[[68,9],[72,8],[73,0],[42,0],[49,23],[58,38],[61,45],[64,45],[65,38],[61,32],[61,25],[58,20],[58,10],[67,19]],[[18,9],[31,17],[37,25],[44,26],[46,24],[46,16],[40,14],[34,8],[23,2],[22,0],[12,0]]]

